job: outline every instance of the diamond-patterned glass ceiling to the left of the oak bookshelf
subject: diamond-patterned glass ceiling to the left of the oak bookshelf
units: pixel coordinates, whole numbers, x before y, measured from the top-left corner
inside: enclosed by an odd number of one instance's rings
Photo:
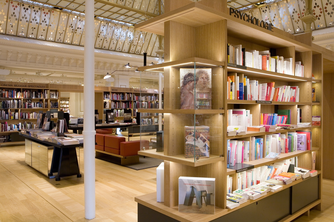
[[[95,48],[134,54],[146,50],[148,55],[157,56],[158,35],[135,30],[133,24],[163,13],[164,2],[110,0],[112,5],[108,5],[104,1],[95,2]],[[83,46],[85,1],[42,2],[0,0],[0,33]]]

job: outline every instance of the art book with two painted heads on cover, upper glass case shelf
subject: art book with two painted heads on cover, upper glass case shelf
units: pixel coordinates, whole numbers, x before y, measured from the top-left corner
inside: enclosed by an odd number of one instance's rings
[[[211,69],[180,69],[180,109],[211,109]]]

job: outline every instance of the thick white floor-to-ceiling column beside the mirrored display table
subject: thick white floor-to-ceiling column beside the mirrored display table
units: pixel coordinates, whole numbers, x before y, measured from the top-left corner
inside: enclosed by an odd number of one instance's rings
[[[85,218],[95,218],[95,115],[94,115],[94,0],[85,5],[85,51],[83,64],[83,141]]]

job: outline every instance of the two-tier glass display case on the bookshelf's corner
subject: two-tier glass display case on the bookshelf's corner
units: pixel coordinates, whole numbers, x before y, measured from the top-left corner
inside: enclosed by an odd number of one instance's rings
[[[218,65],[169,62],[141,71],[141,151],[184,164],[219,158],[223,154],[223,115],[220,113],[223,112],[223,68],[219,62],[215,63]],[[149,81],[144,76],[152,72],[164,72],[162,129],[166,130],[163,131],[154,126],[157,122],[152,119],[159,111],[152,110],[156,107],[144,101],[145,96],[153,93],[147,89]]]

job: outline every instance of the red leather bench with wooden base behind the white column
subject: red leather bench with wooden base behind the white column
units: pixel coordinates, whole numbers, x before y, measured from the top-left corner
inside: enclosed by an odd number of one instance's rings
[[[118,156],[121,164],[138,163],[138,151],[142,147],[149,147],[148,140],[125,141],[124,137],[96,134],[95,156],[105,155]]]

